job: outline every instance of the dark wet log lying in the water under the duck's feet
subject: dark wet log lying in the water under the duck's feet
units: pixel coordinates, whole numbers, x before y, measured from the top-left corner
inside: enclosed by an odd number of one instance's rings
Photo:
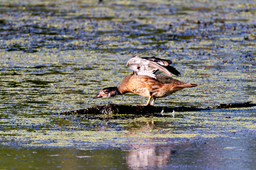
[[[182,111],[200,111],[200,110],[213,110],[213,109],[229,109],[229,108],[240,108],[240,107],[252,107],[256,104],[251,102],[244,103],[228,103],[220,104],[219,106],[198,108],[198,107],[166,107],[166,106],[132,106],[132,105],[121,105],[108,103],[108,105],[94,106],[86,109],[73,110],[62,112],[62,115],[99,115],[99,114],[133,114],[133,115],[147,115],[150,113],[164,112],[182,112]]]

